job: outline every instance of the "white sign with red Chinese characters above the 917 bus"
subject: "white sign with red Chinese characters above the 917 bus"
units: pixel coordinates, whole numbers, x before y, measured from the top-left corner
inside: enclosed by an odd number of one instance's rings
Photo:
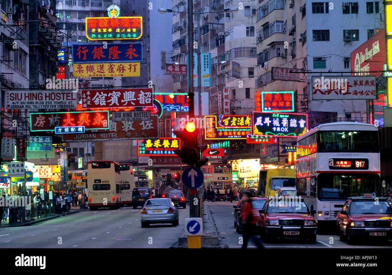
[[[376,76],[312,77],[312,99],[376,99]]]

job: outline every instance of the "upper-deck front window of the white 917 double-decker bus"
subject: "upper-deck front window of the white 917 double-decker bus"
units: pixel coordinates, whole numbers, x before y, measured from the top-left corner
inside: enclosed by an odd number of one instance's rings
[[[318,137],[318,152],[379,152],[377,131],[319,131]]]

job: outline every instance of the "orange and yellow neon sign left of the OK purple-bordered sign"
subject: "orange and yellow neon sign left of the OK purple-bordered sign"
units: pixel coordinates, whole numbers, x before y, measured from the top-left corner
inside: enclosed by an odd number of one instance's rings
[[[250,115],[219,117],[221,124],[218,125],[216,116],[205,116],[205,139],[246,139],[250,134]]]

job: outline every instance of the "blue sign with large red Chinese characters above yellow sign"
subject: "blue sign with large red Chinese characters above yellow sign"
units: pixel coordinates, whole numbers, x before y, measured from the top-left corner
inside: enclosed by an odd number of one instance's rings
[[[142,62],[143,43],[74,44],[73,63]]]

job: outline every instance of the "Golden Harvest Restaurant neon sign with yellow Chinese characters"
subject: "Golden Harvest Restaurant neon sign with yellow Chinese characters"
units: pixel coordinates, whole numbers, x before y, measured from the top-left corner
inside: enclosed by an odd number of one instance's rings
[[[161,137],[159,139],[144,139],[138,145],[138,155],[173,155],[174,150],[180,150],[180,139],[172,137]]]

